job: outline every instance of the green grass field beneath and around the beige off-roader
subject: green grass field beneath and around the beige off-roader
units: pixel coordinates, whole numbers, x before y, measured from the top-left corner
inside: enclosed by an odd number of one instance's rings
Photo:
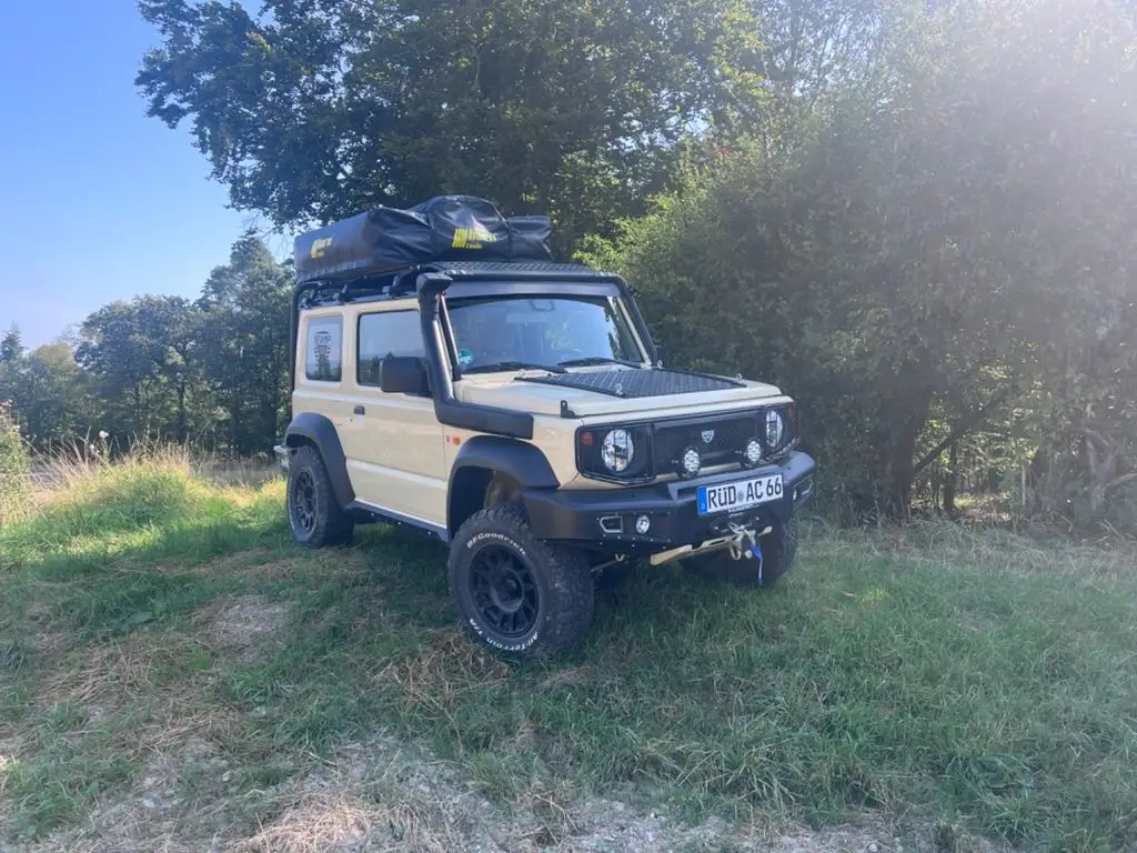
[[[772,590],[641,571],[575,657],[518,666],[455,628],[437,543],[373,527],[300,552],[282,499],[168,457],[0,528],[0,840],[81,823],[158,765],[179,808],[273,838],[296,810],[266,792],[377,735],[562,833],[606,796],[690,821],[901,815],[947,827],[944,850],[954,826],[1137,838],[1131,550],[815,523]]]

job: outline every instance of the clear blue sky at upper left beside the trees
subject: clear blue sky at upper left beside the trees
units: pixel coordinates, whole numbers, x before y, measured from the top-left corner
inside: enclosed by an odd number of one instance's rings
[[[226,209],[188,126],[147,118],[134,75],[157,41],[133,0],[5,3],[0,330],[28,346],[113,299],[196,296],[246,224],[265,225]]]

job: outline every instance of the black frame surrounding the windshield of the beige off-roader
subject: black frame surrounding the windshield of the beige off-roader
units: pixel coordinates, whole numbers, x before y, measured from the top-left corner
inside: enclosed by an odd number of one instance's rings
[[[440,320],[442,325],[442,337],[446,342],[447,357],[450,361],[450,373],[455,381],[459,380],[465,375],[458,364],[458,345],[457,337],[455,336],[454,326],[450,322],[450,307],[451,301],[462,301],[465,299],[492,299],[498,298],[501,300],[516,299],[516,298],[545,298],[545,299],[607,299],[614,305],[615,310],[619,313],[621,322],[628,332],[629,339],[633,345],[636,353],[631,354],[633,357],[629,361],[633,361],[641,366],[650,366],[652,356],[647,343],[645,342],[639,324],[637,323],[637,314],[628,305],[629,293],[617,287],[615,283],[611,282],[597,282],[597,283],[580,283],[580,282],[478,282],[476,284],[465,284],[459,283],[458,287],[454,288],[453,291],[448,291],[442,297],[442,305],[440,310]],[[528,367],[518,370],[504,370],[495,373],[484,373],[479,375],[513,375],[521,373],[524,370],[530,370]]]

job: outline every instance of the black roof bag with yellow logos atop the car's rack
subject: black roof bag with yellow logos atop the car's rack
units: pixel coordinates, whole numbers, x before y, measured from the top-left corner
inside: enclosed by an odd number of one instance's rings
[[[547,216],[505,218],[473,196],[377,207],[296,238],[297,280],[347,281],[432,260],[550,260],[550,231]]]

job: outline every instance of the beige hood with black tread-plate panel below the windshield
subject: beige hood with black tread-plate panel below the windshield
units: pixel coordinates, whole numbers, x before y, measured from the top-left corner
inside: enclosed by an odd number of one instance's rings
[[[632,380],[634,374],[652,375]],[[700,376],[658,367],[582,368],[566,374],[521,371],[467,376],[455,384],[454,392],[463,403],[536,415],[559,416],[563,400],[576,417],[655,415],[662,414],[662,409],[667,409],[667,414],[677,414],[672,409],[678,413],[682,409],[730,409],[782,396],[778,388],[763,382]]]

